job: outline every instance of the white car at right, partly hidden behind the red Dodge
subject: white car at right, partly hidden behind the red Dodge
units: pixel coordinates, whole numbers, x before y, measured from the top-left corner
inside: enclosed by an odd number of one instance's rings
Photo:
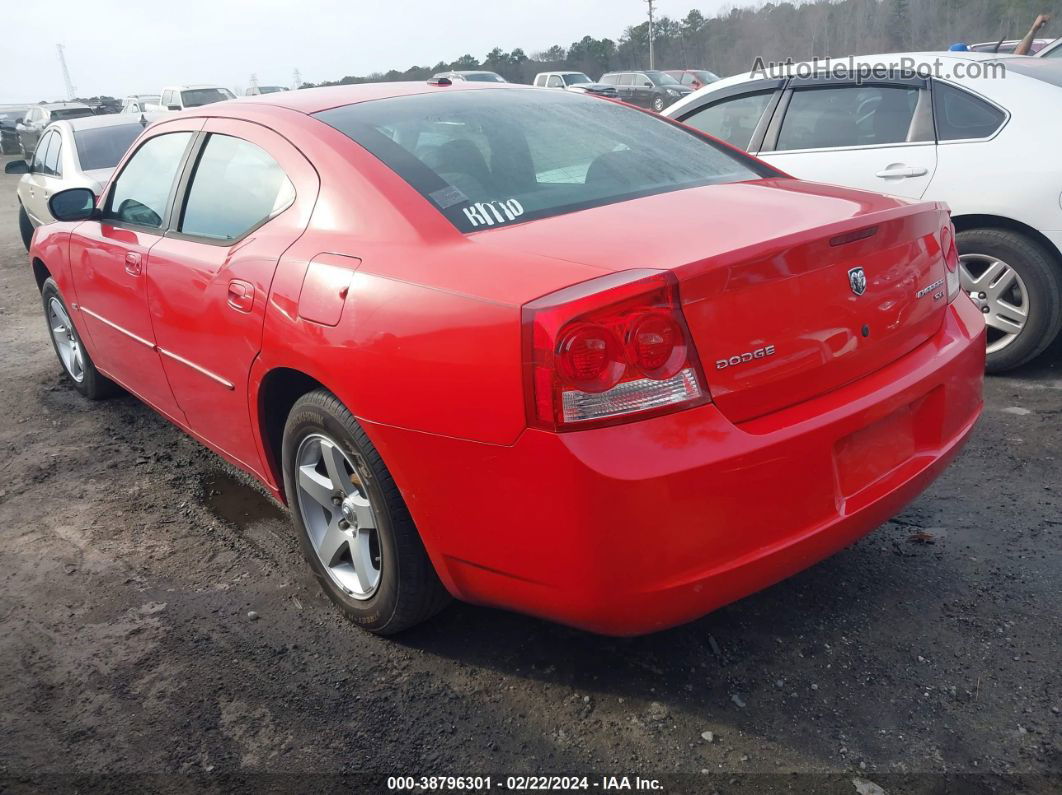
[[[855,76],[900,58],[939,69]],[[665,115],[801,179],[946,202],[963,289],[989,326],[988,369],[1039,356],[1062,328],[1062,62],[890,54],[855,58],[846,74],[837,64],[727,77]]]

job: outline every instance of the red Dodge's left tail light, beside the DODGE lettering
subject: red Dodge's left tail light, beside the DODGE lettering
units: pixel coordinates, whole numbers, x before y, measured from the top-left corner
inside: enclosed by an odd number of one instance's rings
[[[679,303],[664,271],[624,271],[524,307],[529,425],[596,428],[708,402]]]

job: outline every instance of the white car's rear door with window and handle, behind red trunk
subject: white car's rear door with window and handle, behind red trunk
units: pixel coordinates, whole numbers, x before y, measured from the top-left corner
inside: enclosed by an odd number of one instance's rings
[[[937,170],[926,81],[790,81],[759,156],[801,179],[921,198]]]

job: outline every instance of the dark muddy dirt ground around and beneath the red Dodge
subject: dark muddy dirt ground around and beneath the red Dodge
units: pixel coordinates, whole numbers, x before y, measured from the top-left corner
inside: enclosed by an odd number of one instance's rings
[[[135,399],[64,382],[16,179],[0,177],[0,791],[528,774],[1062,791],[1057,352],[988,380],[973,440],[902,516],[692,624],[615,640],[456,604],[379,639],[319,592],[279,506]]]

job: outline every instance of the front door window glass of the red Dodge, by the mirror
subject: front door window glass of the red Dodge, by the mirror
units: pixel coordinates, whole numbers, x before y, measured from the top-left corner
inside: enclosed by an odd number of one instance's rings
[[[104,217],[159,228],[191,138],[191,133],[167,133],[149,138],[115,180]]]

